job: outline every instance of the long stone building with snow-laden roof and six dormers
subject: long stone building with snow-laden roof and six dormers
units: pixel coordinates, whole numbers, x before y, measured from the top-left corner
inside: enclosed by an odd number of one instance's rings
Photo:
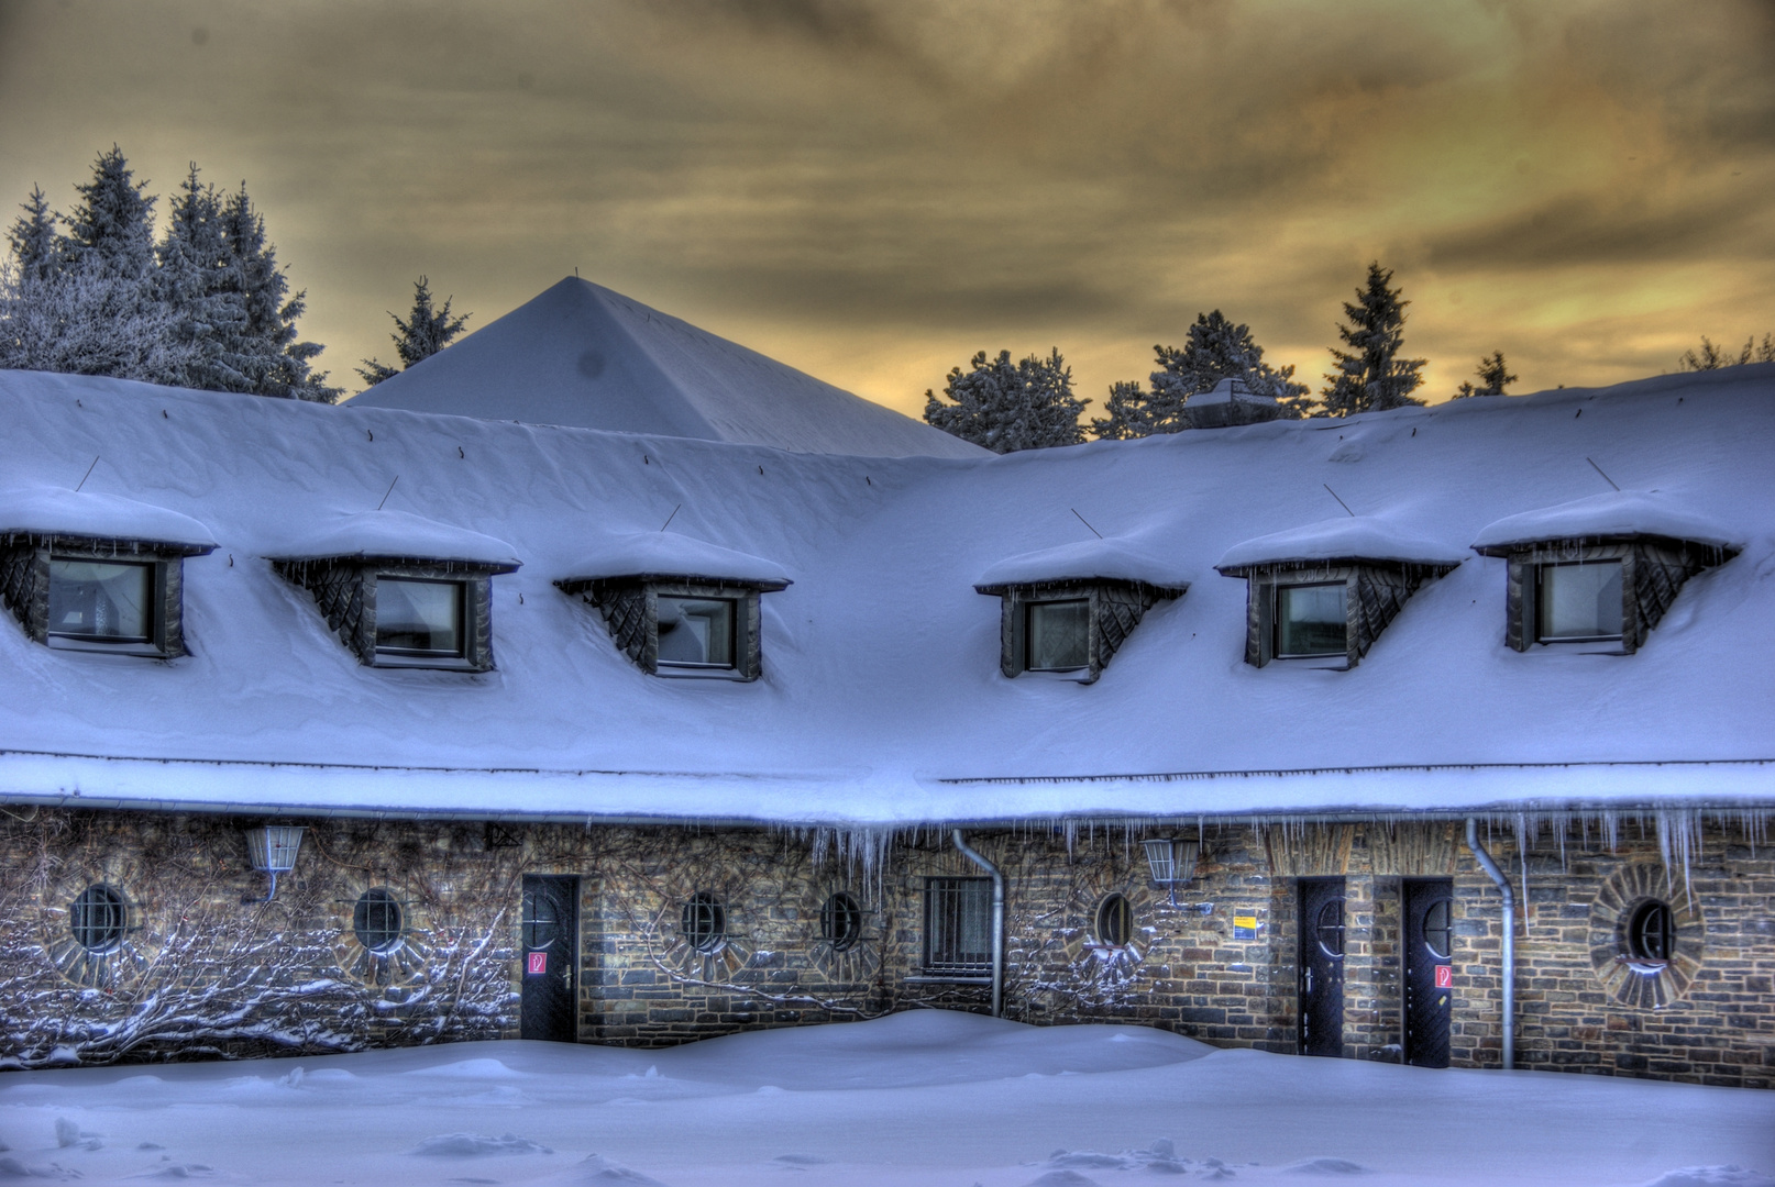
[[[1775,367],[792,435],[0,373],[0,1056],[1001,1004],[1775,1082]]]

